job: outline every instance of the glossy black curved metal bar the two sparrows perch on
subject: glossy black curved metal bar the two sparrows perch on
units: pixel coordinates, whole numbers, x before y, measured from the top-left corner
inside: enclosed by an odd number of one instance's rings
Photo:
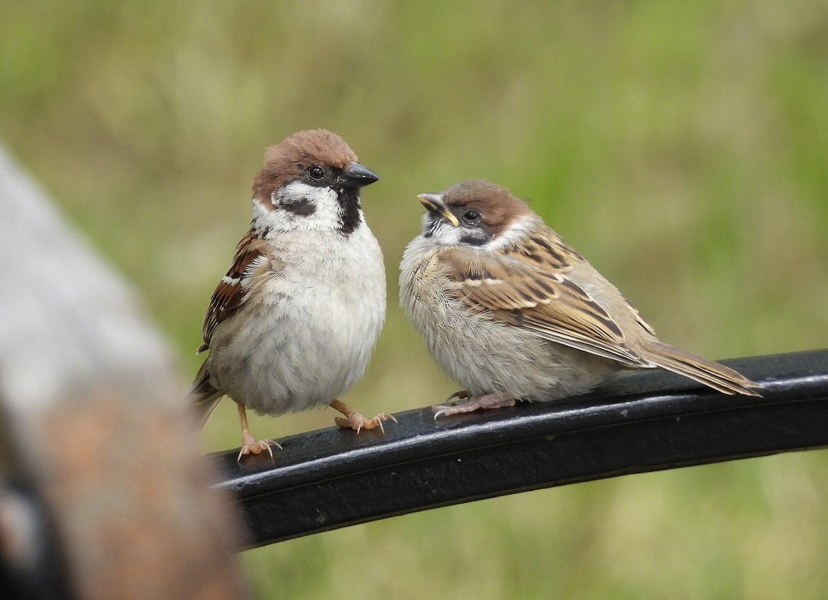
[[[407,410],[384,436],[294,435],[279,440],[273,463],[218,454],[219,486],[238,497],[257,546],[542,487],[828,446],[828,350],[725,362],[763,383],[763,397],[634,372],[555,404],[436,422],[427,408]]]

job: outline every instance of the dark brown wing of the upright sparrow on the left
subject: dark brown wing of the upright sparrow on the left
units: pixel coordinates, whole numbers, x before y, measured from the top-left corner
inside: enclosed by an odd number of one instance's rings
[[[238,312],[247,300],[250,289],[248,280],[253,276],[256,267],[262,265],[265,260],[267,260],[265,243],[252,232],[248,232],[238,242],[233,262],[209,300],[205,320],[201,326],[205,343],[201,344],[197,352],[204,352],[209,348],[210,338],[213,337],[216,326]]]

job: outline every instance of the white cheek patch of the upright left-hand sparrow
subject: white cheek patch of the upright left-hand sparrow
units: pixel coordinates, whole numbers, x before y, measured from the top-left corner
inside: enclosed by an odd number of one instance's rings
[[[296,199],[304,200],[312,211],[310,214],[296,214],[282,208]],[[263,204],[264,199],[253,199],[253,223],[258,233],[269,231],[291,232],[338,229],[342,225],[342,206],[335,190],[330,187],[316,187],[301,181],[293,181],[272,195],[269,201],[276,206],[272,209]]]

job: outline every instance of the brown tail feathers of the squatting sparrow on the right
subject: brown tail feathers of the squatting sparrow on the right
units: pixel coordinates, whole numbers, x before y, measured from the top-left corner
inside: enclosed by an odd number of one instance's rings
[[[651,354],[647,356],[647,359],[657,367],[690,377],[696,382],[703,383],[705,386],[712,387],[724,394],[762,396],[759,393],[759,390],[762,389],[761,385],[718,362],[701,358],[661,342],[652,343],[652,346],[648,349]]]

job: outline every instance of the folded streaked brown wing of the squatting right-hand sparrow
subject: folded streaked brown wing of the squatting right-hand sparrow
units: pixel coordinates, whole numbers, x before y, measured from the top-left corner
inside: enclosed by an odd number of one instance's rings
[[[566,251],[569,249],[563,247]],[[643,366],[624,342],[619,325],[567,274],[567,259],[556,251],[498,254],[497,260],[470,248],[442,252],[450,263],[457,295],[474,310],[489,310],[495,319],[528,329],[533,334],[630,366]]]

